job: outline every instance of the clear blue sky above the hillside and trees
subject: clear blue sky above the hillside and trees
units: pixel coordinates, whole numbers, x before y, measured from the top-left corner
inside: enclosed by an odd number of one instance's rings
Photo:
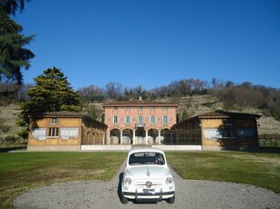
[[[15,19],[36,35],[25,83],[56,66],[75,90],[213,77],[280,87],[279,0],[33,0]]]

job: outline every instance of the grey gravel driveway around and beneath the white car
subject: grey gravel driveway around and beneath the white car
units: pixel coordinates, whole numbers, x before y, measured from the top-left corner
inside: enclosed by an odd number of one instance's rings
[[[109,182],[87,181],[52,184],[22,194],[14,201],[15,208],[280,208],[280,195],[246,184],[189,181],[172,172],[176,184],[174,204],[121,204],[119,173]]]

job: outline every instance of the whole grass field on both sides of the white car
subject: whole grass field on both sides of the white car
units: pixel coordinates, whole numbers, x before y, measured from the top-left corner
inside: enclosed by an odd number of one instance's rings
[[[254,184],[280,193],[280,154],[167,152],[184,179]],[[127,153],[0,153],[0,208],[37,186],[75,180],[108,181]],[[116,185],[118,186],[118,185]]]

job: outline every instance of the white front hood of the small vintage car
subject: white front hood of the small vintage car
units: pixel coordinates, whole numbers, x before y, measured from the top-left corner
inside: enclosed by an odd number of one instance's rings
[[[135,178],[162,178],[171,175],[169,168],[161,165],[136,165],[127,168],[126,173]]]

